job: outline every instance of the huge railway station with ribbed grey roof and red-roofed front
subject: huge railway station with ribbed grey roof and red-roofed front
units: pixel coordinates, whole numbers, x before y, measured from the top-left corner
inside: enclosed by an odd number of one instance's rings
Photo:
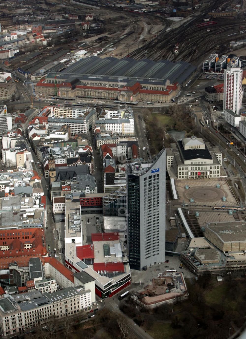
[[[80,60],[62,72],[49,73],[36,84],[35,92],[65,99],[168,103],[195,71],[196,67],[184,61],[95,56]]]

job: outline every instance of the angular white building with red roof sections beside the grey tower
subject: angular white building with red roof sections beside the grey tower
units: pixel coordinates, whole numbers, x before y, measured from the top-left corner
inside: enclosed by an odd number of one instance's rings
[[[65,210],[66,267],[94,278],[95,292],[101,298],[120,292],[131,281],[129,263],[121,250],[124,234],[91,234],[91,243],[87,244],[83,240],[86,237],[82,234],[80,203],[66,202]]]

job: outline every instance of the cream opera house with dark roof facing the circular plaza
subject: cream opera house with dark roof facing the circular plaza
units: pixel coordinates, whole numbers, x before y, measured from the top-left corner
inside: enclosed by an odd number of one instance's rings
[[[219,178],[222,153],[205,144],[202,138],[184,138],[166,149],[166,166],[170,178]]]

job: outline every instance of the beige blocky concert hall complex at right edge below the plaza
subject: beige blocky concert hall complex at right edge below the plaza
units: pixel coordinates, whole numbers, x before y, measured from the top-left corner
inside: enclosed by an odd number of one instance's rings
[[[204,238],[192,238],[181,261],[197,276],[245,271],[245,221],[208,223]]]

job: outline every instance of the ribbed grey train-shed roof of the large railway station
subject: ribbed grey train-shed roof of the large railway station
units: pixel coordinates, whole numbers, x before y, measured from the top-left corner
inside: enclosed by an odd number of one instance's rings
[[[49,73],[47,78],[57,76],[58,79],[64,80],[70,77],[87,80],[91,75],[94,75],[100,76],[102,82],[124,77],[122,82],[124,81],[126,84],[132,80],[139,81],[141,84],[152,84],[152,80],[155,79],[155,84],[158,85],[165,83],[166,80],[169,80],[170,83],[182,83],[195,69],[196,67],[185,61],[90,57],[74,63],[62,72]]]

